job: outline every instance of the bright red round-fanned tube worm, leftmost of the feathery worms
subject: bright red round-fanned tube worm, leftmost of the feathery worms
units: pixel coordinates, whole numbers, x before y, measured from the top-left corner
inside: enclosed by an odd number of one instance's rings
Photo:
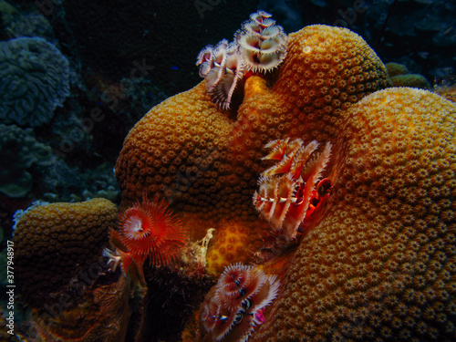
[[[176,260],[187,243],[188,233],[181,221],[168,210],[168,204],[156,198],[150,202],[144,198],[119,215],[119,231],[110,229],[111,244],[118,251],[106,251],[113,264],[120,258],[127,274],[131,263],[142,275],[142,265],[150,258],[150,264],[164,265]]]

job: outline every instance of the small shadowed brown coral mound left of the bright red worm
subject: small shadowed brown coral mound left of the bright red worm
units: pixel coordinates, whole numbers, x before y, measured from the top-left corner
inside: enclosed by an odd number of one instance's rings
[[[37,205],[16,222],[15,276],[26,301],[46,296],[101,256],[116,206],[105,199]]]

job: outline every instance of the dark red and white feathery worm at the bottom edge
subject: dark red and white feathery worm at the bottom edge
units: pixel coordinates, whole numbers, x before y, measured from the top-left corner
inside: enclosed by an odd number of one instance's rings
[[[264,309],[279,290],[275,275],[254,266],[231,264],[206,295],[200,319],[212,341],[246,341],[264,323]]]

